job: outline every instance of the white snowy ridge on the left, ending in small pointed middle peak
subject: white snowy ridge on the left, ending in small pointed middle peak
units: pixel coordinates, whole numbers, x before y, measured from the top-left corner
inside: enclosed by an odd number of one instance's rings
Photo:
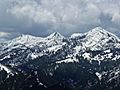
[[[48,36],[46,38],[35,37],[35,36],[31,36],[31,35],[21,35],[15,39],[9,41],[8,47],[11,45],[12,46],[16,45],[16,44],[24,44],[26,46],[48,44],[49,42],[51,42],[51,44],[54,44],[54,43],[57,43],[58,41],[59,41],[58,43],[60,43],[60,41],[62,41],[63,38],[64,37],[57,32],[51,34],[50,36]]]

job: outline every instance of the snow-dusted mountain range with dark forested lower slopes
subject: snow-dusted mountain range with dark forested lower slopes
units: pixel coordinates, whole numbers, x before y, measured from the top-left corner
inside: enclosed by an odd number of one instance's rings
[[[119,90],[120,39],[102,27],[0,43],[1,90]]]

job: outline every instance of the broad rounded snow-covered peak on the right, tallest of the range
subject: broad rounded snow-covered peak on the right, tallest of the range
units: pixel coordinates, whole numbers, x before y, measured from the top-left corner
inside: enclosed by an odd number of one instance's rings
[[[115,44],[119,41],[120,40],[116,35],[101,27],[97,27],[87,32],[84,46],[98,50],[101,48],[110,48],[110,46],[115,46]]]

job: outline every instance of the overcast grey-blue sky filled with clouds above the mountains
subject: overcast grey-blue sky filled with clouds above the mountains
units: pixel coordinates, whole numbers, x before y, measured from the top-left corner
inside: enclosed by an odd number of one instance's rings
[[[120,32],[120,0],[0,0],[0,40],[20,34],[69,36],[101,26]]]

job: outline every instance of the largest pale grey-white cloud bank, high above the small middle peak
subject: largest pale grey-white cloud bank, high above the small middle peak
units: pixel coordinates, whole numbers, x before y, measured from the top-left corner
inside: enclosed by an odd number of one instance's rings
[[[79,25],[100,24],[99,8],[84,0],[41,0],[40,3],[22,0],[10,12],[19,19],[29,18],[38,24],[50,24],[52,29],[71,25],[73,30]]]

